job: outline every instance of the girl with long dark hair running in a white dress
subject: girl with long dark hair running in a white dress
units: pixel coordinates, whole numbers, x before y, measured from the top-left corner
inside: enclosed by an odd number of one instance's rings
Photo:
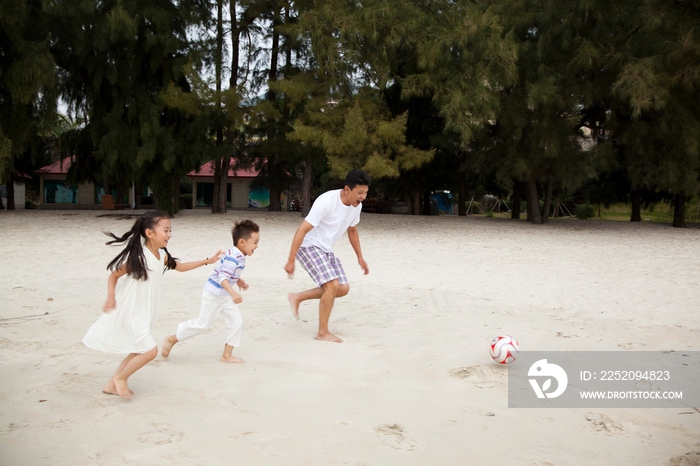
[[[133,392],[127,379],[158,354],[151,332],[160,304],[161,276],[167,269],[185,272],[213,264],[222,251],[205,260],[178,262],[166,249],[171,235],[170,219],[161,212],[146,212],[121,238],[113,233],[105,234],[114,238],[106,244],[127,245],[107,266],[112,271],[107,281],[107,302],[83,343],[107,353],[129,353],[102,391],[131,398]],[[124,275],[115,298],[117,281]]]

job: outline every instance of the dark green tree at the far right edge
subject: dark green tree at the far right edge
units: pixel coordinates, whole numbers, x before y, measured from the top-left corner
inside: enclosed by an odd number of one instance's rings
[[[700,187],[700,7],[645,0],[636,13],[613,88],[627,104],[619,112],[627,122],[620,144],[633,186],[668,193],[673,226],[684,227],[685,200]]]

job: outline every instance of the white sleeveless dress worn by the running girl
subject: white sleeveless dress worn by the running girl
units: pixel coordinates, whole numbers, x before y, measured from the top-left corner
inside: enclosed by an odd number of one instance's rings
[[[88,348],[107,353],[143,354],[156,347],[152,332],[160,305],[160,281],[166,254],[159,251],[160,259],[157,259],[148,248],[144,247],[143,251],[148,279],[136,280],[128,274],[120,277],[116,307],[103,312],[90,327],[83,338]]]

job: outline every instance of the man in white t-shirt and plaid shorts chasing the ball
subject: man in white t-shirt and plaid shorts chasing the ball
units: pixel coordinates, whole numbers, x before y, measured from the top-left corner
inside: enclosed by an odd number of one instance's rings
[[[321,194],[311,207],[306,219],[301,222],[292,239],[292,249],[284,270],[289,278],[294,276],[294,259],[299,259],[318,288],[289,293],[289,304],[294,317],[299,319],[299,304],[307,299],[318,299],[318,334],[316,340],[342,343],[343,340],[328,331],[328,319],[331,316],[335,298],[348,294],[350,285],[340,260],[333,254],[333,245],[345,233],[357,261],[365,275],[369,267],[362,257],[360,234],[357,224],[360,222],[362,201],[367,197],[370,179],[362,170],[352,170],[345,177],[345,187]]]

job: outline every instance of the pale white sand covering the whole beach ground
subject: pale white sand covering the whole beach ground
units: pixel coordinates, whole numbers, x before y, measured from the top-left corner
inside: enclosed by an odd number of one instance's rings
[[[298,322],[287,304],[312,286],[282,269],[298,214],[186,211],[169,246],[182,260],[228,247],[236,219],[261,226],[234,350],[246,364],[219,362],[217,319],[138,371],[127,401],[101,393],[121,357],[81,343],[118,252],[100,230],[133,222],[101,214],[0,212],[0,464],[685,465],[670,460],[700,452],[692,408],[509,409],[488,355],[499,333],[523,350],[700,350],[697,228],[364,214],[370,274],[341,239],[351,291],[332,344],[312,339],[315,303]],[[156,341],[197,314],[210,270],[166,274]]]

